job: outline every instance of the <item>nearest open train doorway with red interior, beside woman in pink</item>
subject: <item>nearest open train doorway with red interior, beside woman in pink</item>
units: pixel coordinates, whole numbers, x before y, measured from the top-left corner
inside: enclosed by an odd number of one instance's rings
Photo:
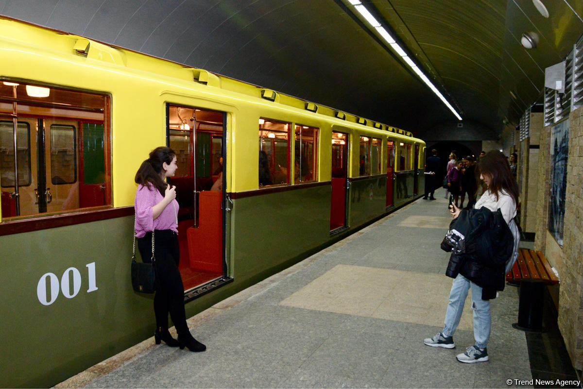
[[[178,169],[169,179],[176,186],[178,242],[184,290],[194,297],[226,276],[224,256],[225,178],[223,157],[226,114],[167,105],[167,142]]]

